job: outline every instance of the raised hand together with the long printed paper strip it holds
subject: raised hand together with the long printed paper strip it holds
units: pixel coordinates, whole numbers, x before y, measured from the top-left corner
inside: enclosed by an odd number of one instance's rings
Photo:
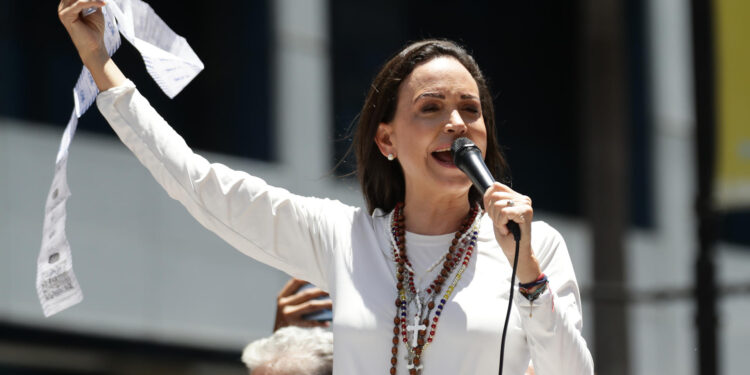
[[[83,13],[86,9],[94,12]],[[173,98],[203,69],[184,38],[177,35],[142,0],[62,0],[58,15],[85,67],[73,88],[73,113],[63,132],[44,212],[42,246],[37,257],[37,295],[45,316],[83,299],[73,273],[73,258],[65,234],[68,149],[78,118],[94,103],[100,90],[120,86],[126,78],[110,56],[120,46],[120,34],[141,53],[151,77]]]

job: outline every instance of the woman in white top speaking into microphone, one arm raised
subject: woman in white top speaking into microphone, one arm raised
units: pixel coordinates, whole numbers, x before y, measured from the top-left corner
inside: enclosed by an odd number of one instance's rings
[[[195,154],[108,56],[101,1],[63,0],[60,20],[101,91],[99,110],[167,193],[239,251],[327,290],[336,374],[493,374],[520,226],[505,374],[592,374],[581,301],[560,234],[529,197],[484,194],[453,163],[466,137],[495,176],[505,161],[492,97],[455,43],[413,43],[362,106],[354,152],[367,207],[302,197]]]

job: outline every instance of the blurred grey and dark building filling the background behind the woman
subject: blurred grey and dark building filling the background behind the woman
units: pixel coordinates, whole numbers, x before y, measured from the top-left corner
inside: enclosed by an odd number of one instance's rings
[[[605,34],[587,29],[599,14],[587,14],[583,0],[149,3],[206,69],[169,100],[132,46],[124,43],[115,60],[188,144],[294,193],[354,205],[362,200],[356,180],[342,177],[353,169],[346,150],[380,64],[410,40],[465,44],[496,94],[514,188],[534,199],[537,218],[568,243],[595,358],[603,349],[594,345],[593,322],[607,317],[594,316],[594,306],[619,304],[624,318],[612,324],[625,334],[612,342],[626,345],[627,373],[698,373],[687,0],[612,2],[621,5],[612,48]],[[240,351],[270,334],[275,296],[287,276],[200,227],[95,108],[81,119],[68,171],[68,238],[85,297],[43,317],[34,281],[44,199],[80,61],[52,8],[10,1],[1,7],[0,373],[244,373]],[[586,182],[592,109],[582,93],[595,70],[587,64],[609,60],[592,58],[591,45],[615,54],[622,74],[611,89],[622,94],[618,129],[625,131],[616,171],[625,178],[626,207],[616,212],[624,220],[618,261],[624,274],[604,286],[594,282],[600,280],[595,255],[610,249],[595,250],[596,223],[587,208],[597,192]],[[613,126],[598,125],[605,133]],[[747,216],[726,217],[717,248],[722,373],[744,373],[750,365]]]

